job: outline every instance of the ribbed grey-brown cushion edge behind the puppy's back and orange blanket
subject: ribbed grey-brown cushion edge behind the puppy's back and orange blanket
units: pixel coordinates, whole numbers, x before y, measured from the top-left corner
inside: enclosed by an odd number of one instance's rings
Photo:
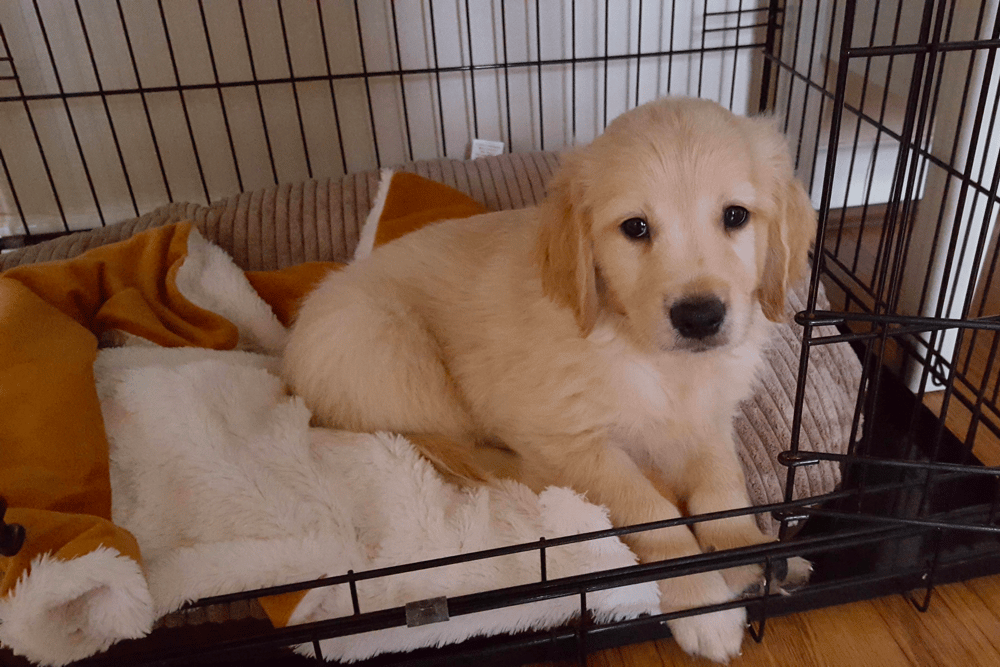
[[[505,154],[479,160],[426,160],[409,171],[464,192],[491,210],[542,200],[558,165],[555,153]],[[68,259],[95,246],[179,220],[192,220],[208,240],[229,251],[247,271],[309,261],[346,261],[354,253],[378,190],[377,171],[340,179],[275,185],[212,206],[169,204],[139,218],[40,243],[0,256],[0,270],[25,262]]]

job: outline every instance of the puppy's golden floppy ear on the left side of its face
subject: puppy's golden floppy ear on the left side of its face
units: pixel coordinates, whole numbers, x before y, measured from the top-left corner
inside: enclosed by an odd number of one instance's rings
[[[581,155],[564,155],[541,207],[536,259],[546,296],[572,310],[586,335],[597,320],[598,301],[584,179]]]

